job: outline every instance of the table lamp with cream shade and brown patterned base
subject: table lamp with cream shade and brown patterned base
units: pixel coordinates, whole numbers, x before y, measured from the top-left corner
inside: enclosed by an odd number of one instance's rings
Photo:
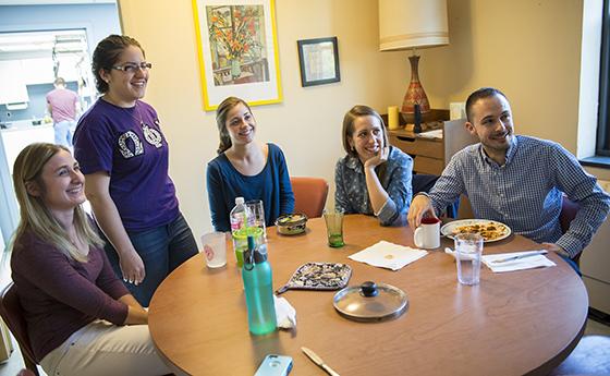
[[[411,49],[411,83],[404,95],[401,114],[413,122],[415,105],[422,113],[430,111],[430,102],[419,82],[417,48],[449,45],[447,0],[379,0],[379,50]]]

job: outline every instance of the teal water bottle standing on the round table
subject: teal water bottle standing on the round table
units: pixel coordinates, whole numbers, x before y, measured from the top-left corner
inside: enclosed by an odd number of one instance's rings
[[[247,236],[248,250],[244,253],[242,279],[246,295],[248,328],[253,335],[266,335],[276,330],[276,306],[271,265],[267,260],[267,244],[255,245],[254,236]]]

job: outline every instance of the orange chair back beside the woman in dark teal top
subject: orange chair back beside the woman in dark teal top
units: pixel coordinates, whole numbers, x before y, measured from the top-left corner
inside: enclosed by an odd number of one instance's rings
[[[321,178],[290,178],[294,192],[294,211],[307,218],[322,216],[328,195],[328,183]]]

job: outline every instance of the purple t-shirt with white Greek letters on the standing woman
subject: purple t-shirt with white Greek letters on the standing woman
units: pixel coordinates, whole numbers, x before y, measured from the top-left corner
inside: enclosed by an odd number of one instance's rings
[[[121,108],[98,99],[74,133],[81,170],[110,174],[110,196],[129,231],[167,225],[180,214],[159,124],[155,109],[143,101]]]

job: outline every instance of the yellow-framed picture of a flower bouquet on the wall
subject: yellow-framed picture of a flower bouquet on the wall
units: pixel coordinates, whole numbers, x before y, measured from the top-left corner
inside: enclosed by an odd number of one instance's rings
[[[274,0],[192,0],[204,110],[282,101]]]

